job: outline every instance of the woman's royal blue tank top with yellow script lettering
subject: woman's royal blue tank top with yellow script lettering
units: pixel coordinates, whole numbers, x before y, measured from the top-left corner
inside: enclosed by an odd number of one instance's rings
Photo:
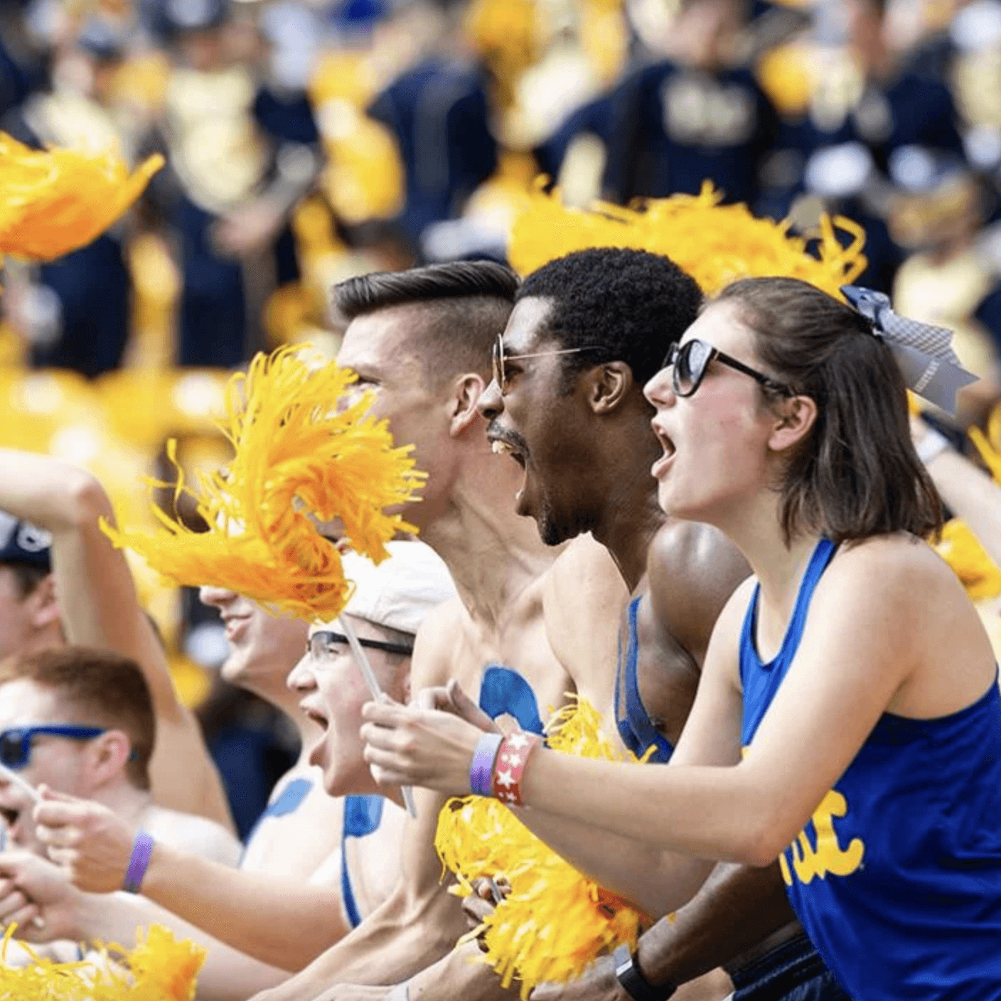
[[[741,636],[743,743],[796,655],[835,547],[814,552],[782,647],[762,664],[759,591]],[[951,716],[885,713],[780,856],[790,902],[855,1001],[1001,998],[1001,694]]]

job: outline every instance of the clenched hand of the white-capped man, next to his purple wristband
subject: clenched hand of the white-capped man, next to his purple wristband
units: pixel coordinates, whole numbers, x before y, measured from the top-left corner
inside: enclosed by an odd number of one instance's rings
[[[42,801],[34,809],[35,833],[49,858],[81,890],[120,890],[136,832],[114,811],[93,800],[79,800],[45,786],[38,791]]]

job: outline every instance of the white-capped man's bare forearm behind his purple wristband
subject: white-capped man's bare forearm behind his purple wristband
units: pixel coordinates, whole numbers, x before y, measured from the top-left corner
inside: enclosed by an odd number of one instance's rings
[[[244,872],[157,844],[143,894],[263,963],[301,970],[347,929],[339,892]]]

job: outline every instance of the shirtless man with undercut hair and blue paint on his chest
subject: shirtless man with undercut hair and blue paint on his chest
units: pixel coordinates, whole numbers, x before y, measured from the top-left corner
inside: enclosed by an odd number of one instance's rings
[[[373,389],[372,412],[387,418],[397,444],[412,443],[428,473],[422,499],[403,514],[444,560],[457,598],[431,613],[417,636],[411,690],[457,678],[494,718],[539,729],[548,706],[579,691],[611,705],[608,660],[626,592],[605,551],[582,540],[556,560],[536,527],[513,510],[517,470],[490,453],[476,401],[489,382],[490,344],[504,329],[518,278],[476,261],[350,279],[335,291],[349,321],[337,360]],[[556,563],[554,561],[556,560]],[[554,603],[555,585],[575,606]],[[580,618],[578,618],[580,617]],[[549,633],[565,619],[591,622],[590,661],[574,674]],[[574,628],[574,626],[559,628]],[[441,880],[433,848],[442,799],[414,789],[416,819],[404,825],[402,878],[390,898],[310,967],[259,1001],[325,995],[381,997],[449,953],[465,931],[458,901]],[[472,944],[471,953],[476,947]],[[488,969],[453,964],[448,997],[499,990]],[[367,986],[366,986],[367,985]]]

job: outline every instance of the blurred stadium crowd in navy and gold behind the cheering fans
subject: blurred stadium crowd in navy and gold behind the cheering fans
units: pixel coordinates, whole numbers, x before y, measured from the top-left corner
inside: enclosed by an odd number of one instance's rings
[[[854,219],[860,283],[956,330],[1001,442],[1001,0],[0,6],[0,129],[167,158],[106,235],[3,273],[0,445],[87,466],[120,521],[148,524],[168,438],[189,479],[225,461],[232,369],[333,353],[333,283],[503,260],[540,174],[571,205],[709,180],[803,232]],[[294,734],[215,679],[214,611],[135,573],[245,834]]]

